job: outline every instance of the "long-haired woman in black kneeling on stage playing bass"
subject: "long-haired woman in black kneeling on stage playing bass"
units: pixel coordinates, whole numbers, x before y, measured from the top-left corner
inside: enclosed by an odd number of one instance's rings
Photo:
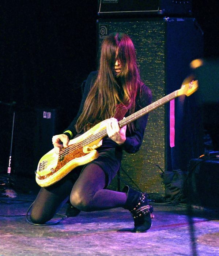
[[[98,72],[86,80],[78,115],[63,134],[53,136],[56,153],[68,147],[70,139],[88,131],[99,122],[107,121],[107,137],[99,147],[99,157],[70,172],[62,180],[41,188],[31,211],[34,223],[45,223],[70,196],[73,207],[97,211],[115,207],[128,209],[135,221],[135,232],[151,227],[153,208],[147,194],[128,186],[122,192],[106,189],[120,168],[122,150],[139,150],[147,124],[147,115],[120,129],[118,120],[151,103],[151,91],[139,75],[135,48],[128,35],[113,33],[103,40]]]

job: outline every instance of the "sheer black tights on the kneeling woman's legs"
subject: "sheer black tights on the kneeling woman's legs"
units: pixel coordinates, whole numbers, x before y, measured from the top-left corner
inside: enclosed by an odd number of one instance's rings
[[[75,183],[65,177],[50,187],[41,188],[33,204],[31,221],[42,224],[52,219],[57,210],[67,202],[69,195],[71,204],[82,211],[123,207],[127,195],[103,189],[105,184],[105,173],[97,164],[91,163],[83,169]]]

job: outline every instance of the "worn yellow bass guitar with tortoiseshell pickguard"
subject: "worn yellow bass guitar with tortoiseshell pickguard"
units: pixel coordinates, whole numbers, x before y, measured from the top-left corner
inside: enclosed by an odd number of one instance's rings
[[[118,122],[118,125],[122,128],[172,99],[180,95],[189,96],[197,89],[197,80],[182,84],[179,90],[166,95],[158,101],[155,101],[136,113],[122,119]],[[55,153],[54,148],[46,153],[39,160],[37,171],[35,172],[37,184],[40,187],[48,187],[61,180],[75,167],[85,165],[98,158],[99,154],[95,149],[101,146],[101,140],[107,136],[106,123],[107,119],[95,125],[77,138],[69,140],[68,148],[62,148],[59,154]]]

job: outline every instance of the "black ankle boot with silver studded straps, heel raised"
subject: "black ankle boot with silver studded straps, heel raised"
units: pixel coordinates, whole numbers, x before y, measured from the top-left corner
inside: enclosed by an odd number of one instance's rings
[[[148,204],[147,193],[140,193],[125,186],[122,192],[127,194],[124,208],[129,210],[135,222],[134,232],[141,233],[150,229],[154,218],[153,207]]]

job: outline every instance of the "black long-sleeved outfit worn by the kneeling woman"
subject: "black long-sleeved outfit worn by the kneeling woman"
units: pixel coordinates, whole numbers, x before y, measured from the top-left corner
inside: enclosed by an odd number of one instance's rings
[[[63,132],[69,137],[69,139],[72,139],[77,135],[77,132],[75,130],[75,124],[80,114],[82,113],[84,102],[96,78],[97,78],[97,71],[91,72],[88,75],[88,78],[84,86],[82,101],[80,104],[78,114],[73,119],[69,127],[65,129]],[[142,84],[136,97],[136,112],[146,107],[147,105],[149,105],[151,103],[151,100],[152,100],[151,90],[145,84]],[[128,113],[125,114],[125,117],[127,116],[129,116]],[[131,131],[129,131],[129,129],[127,128],[126,140],[124,144],[122,144],[121,146],[118,145],[116,142],[114,142],[112,139],[110,139],[108,136],[103,138],[102,146],[97,148],[99,157],[96,160],[92,161],[92,163],[96,163],[97,165],[99,165],[105,172],[106,187],[107,185],[110,184],[112,178],[116,175],[120,167],[121,160],[122,160],[122,149],[125,150],[127,153],[135,153],[139,150],[143,140],[144,131],[147,125],[147,119],[148,119],[148,114],[135,120],[133,122],[135,126],[135,130],[131,129]],[[65,132],[68,130],[72,132],[73,134],[72,138],[68,132]]]

